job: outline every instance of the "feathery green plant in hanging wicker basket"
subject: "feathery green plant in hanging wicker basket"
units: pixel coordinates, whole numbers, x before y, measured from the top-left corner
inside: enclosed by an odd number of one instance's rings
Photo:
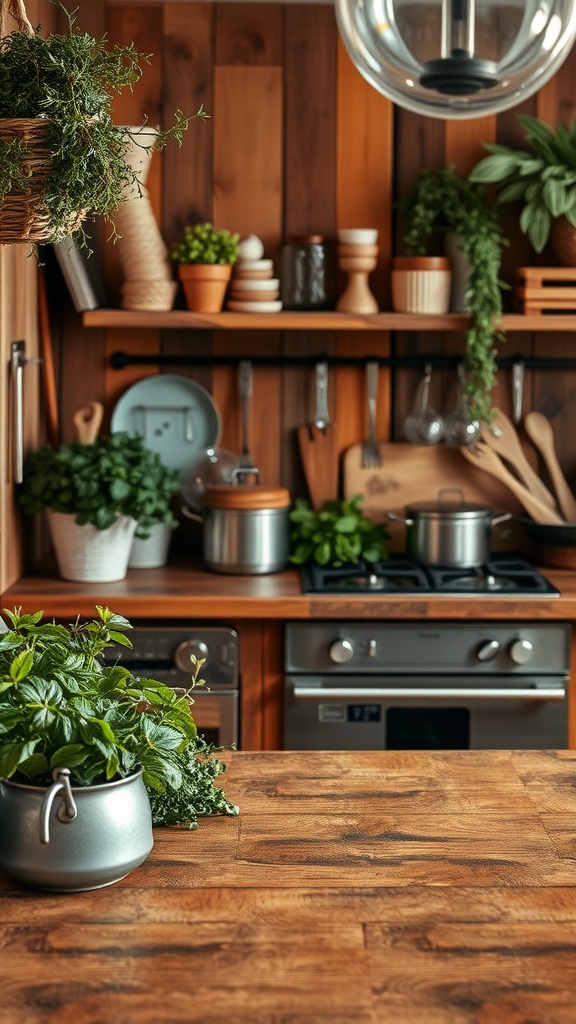
[[[17,31],[0,40],[0,243],[56,243],[80,232],[86,217],[114,211],[138,186],[127,159],[133,129],[115,125],[113,94],[131,88],[147,59],[133,43],[106,46],[76,27],[60,0],[69,31],[43,38],[24,0],[2,0]],[[202,108],[193,117],[205,117]],[[181,142],[190,117],[142,136],[142,147]],[[143,126],[142,126],[143,127]]]

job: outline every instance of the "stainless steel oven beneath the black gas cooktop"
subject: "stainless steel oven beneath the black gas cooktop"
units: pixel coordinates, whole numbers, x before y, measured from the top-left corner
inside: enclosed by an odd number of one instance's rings
[[[286,750],[566,748],[567,623],[288,623]]]

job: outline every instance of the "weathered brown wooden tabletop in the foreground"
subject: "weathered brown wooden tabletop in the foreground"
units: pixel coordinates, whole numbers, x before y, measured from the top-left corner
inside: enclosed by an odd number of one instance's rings
[[[0,1020],[573,1024],[576,752],[228,757],[123,882],[0,876]]]

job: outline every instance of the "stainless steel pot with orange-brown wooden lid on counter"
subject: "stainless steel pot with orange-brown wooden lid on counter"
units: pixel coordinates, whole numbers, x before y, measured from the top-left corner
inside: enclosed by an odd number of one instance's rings
[[[213,484],[206,487],[201,516],[204,523],[204,564],[214,572],[260,574],[279,572],[290,553],[288,510],[284,487],[260,484]]]

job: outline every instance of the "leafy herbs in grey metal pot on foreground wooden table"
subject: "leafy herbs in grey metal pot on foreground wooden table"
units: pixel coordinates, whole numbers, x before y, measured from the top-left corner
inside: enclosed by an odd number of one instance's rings
[[[197,736],[191,692],[105,664],[131,627],[96,611],[69,627],[4,612],[0,870],[40,889],[111,885],[147,858],[153,824],[238,812],[213,784],[224,766]],[[191,659],[191,690],[202,664]]]

